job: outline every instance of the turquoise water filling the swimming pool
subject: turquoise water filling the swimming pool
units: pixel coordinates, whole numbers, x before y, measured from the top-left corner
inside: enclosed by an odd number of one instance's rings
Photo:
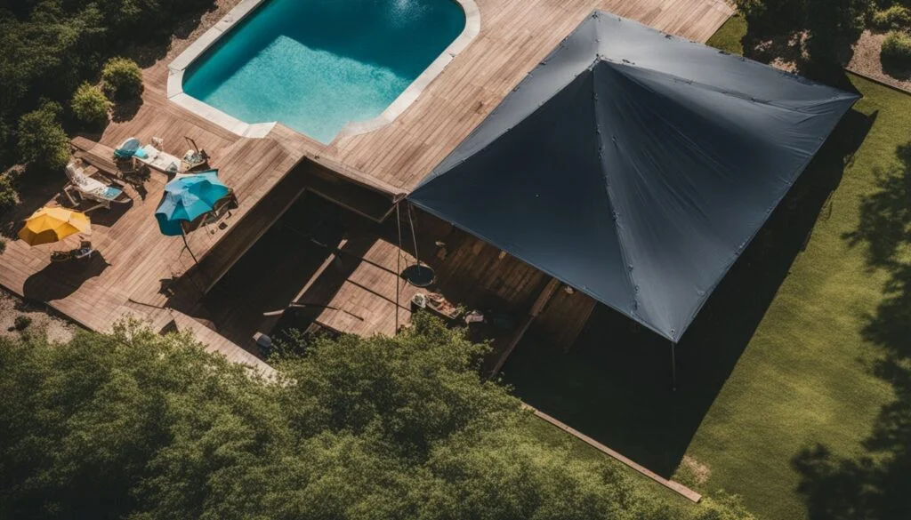
[[[193,62],[183,90],[328,143],[380,115],[465,22],[453,0],[267,0]]]

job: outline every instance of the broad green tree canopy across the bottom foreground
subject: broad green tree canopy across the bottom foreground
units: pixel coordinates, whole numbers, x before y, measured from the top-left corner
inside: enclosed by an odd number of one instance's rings
[[[270,382],[135,323],[0,339],[0,517],[752,518],[544,444],[438,321],[293,347]]]

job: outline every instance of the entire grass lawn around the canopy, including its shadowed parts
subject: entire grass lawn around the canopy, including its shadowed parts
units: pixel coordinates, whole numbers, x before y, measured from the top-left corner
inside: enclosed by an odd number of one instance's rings
[[[763,518],[911,518],[911,96],[843,85],[863,99],[687,331],[678,392],[670,345],[599,308],[568,354],[517,348],[517,393]]]

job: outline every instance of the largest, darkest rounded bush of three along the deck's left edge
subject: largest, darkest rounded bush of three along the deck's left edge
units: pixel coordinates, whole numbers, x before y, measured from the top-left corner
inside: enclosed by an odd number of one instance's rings
[[[62,109],[56,103],[45,103],[34,112],[19,118],[19,156],[24,162],[49,169],[60,169],[69,160],[69,139],[57,122]]]

